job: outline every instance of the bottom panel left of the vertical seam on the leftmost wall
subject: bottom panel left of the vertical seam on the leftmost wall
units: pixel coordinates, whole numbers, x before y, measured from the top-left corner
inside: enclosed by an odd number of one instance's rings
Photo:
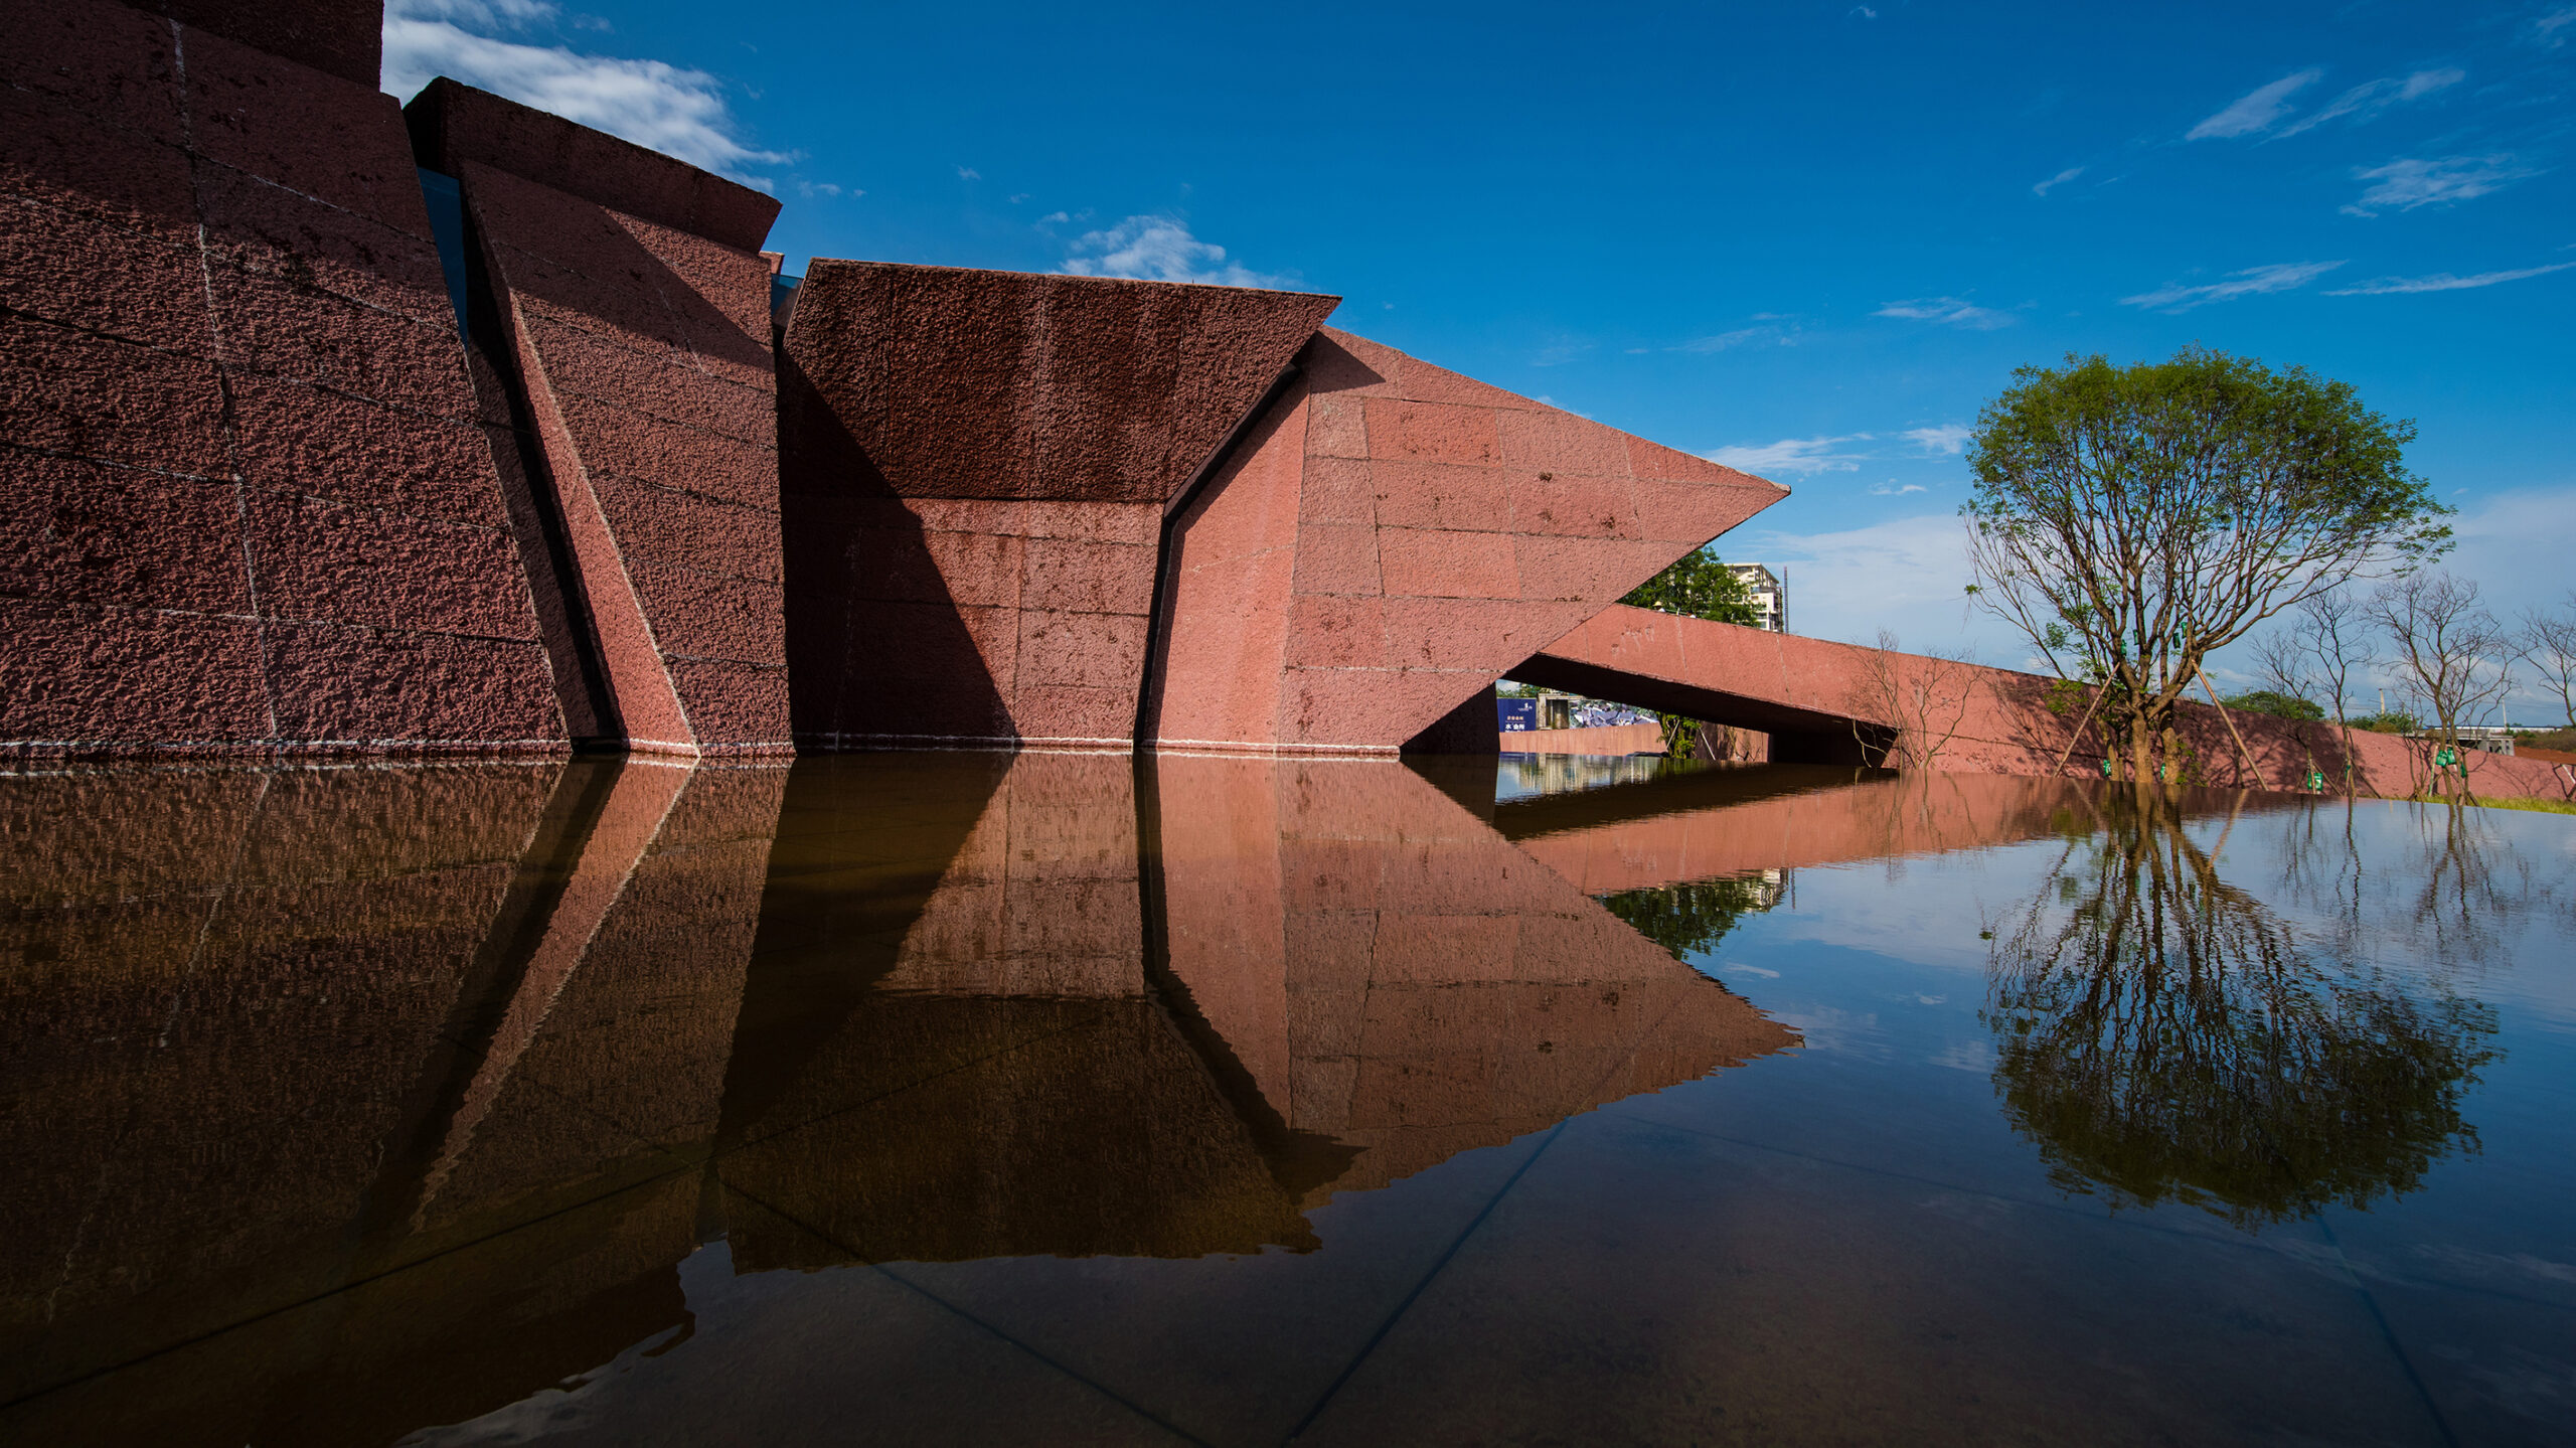
[[[0,595],[0,747],[185,750],[270,734],[247,618]]]

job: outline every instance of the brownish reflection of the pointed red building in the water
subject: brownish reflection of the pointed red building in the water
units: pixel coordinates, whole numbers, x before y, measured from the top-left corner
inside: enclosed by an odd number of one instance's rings
[[[1311,1252],[1793,1041],[1391,760],[100,770],[0,840],[13,1440],[469,1420],[719,1237]]]

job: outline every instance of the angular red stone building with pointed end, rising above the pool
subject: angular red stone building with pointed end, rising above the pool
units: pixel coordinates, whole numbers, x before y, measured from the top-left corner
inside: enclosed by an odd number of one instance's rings
[[[0,747],[1489,750],[1783,490],[1337,299],[817,263],[381,8],[10,0]],[[781,286],[783,291],[783,286]]]

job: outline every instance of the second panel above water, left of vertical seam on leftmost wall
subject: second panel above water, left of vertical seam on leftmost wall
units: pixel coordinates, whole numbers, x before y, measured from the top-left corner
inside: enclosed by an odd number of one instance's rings
[[[250,613],[234,484],[8,453],[0,593]]]

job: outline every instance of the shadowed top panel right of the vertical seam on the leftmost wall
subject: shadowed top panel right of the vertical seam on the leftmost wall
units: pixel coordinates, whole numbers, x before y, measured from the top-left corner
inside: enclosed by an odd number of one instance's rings
[[[188,144],[204,157],[428,240],[402,103],[374,77],[343,80],[191,28],[183,82]]]

